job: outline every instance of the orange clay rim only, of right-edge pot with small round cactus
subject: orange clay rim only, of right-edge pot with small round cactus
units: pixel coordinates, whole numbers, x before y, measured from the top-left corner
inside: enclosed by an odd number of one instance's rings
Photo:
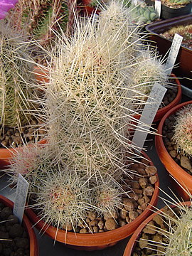
[[[162,134],[162,129],[164,126],[164,121],[167,117],[169,117],[171,114],[176,112],[176,110],[179,110],[181,107],[192,104],[192,100],[188,102],[183,102],[175,107],[173,107],[169,112],[167,112],[164,117],[161,119],[161,122],[159,123],[159,127],[157,129],[157,132],[159,134]],[[190,186],[192,188],[192,177],[190,174],[188,174],[186,171],[184,171],[176,162],[172,159],[172,157],[169,155],[169,152],[166,150],[166,147],[164,146],[163,138],[161,135],[155,136],[155,146],[157,154],[159,155],[159,159],[161,160],[162,164],[164,164],[165,168],[169,173],[176,178],[176,180],[179,181],[179,183],[184,184],[182,176],[190,183]],[[178,171],[177,171],[178,170]]]

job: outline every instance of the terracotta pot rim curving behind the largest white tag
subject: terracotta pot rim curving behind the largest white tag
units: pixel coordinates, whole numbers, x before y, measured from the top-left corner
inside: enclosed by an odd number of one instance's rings
[[[181,83],[176,78],[176,75],[172,73],[171,76],[172,78],[175,78],[176,84],[178,85],[178,92],[177,92],[176,98],[166,107],[161,107],[159,110],[157,110],[153,122],[159,122],[159,120],[161,120],[161,118],[164,117],[164,114],[166,114],[166,112],[168,112],[169,110],[171,110],[172,107],[178,105],[181,102]],[[134,118],[139,119],[140,115],[135,114]]]

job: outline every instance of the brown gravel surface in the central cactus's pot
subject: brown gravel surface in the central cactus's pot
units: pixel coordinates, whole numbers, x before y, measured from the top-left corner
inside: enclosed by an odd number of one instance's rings
[[[78,223],[75,233],[102,233],[122,227],[137,218],[149,205],[154,193],[154,183],[158,181],[156,167],[149,166],[149,161],[141,159],[141,164],[132,164],[129,169],[137,174],[132,174],[132,178],[124,177],[124,192],[122,207],[117,209],[112,215],[97,216],[97,213],[87,213],[85,223]],[[35,198],[29,204],[36,203]],[[41,212],[33,209],[36,215],[41,217]],[[68,231],[73,232],[73,226],[68,225]]]

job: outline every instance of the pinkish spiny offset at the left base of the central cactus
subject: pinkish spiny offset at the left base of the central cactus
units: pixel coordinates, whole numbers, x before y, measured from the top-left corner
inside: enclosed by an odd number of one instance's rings
[[[36,193],[43,186],[42,181],[44,182],[47,174],[59,168],[54,156],[54,149],[50,144],[24,144],[22,148],[16,149],[16,154],[10,160],[10,183],[16,185],[18,174],[21,174],[29,183],[29,193]]]

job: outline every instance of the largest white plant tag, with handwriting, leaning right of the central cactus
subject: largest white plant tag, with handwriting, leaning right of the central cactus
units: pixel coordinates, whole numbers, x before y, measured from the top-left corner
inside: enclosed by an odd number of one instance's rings
[[[134,137],[132,139],[132,144],[138,146],[137,151],[139,153],[141,152],[144,146],[146,136],[149,132],[152,122],[154,121],[154,117],[156,115],[157,110],[159,109],[159,105],[161,104],[165,93],[166,93],[166,88],[163,87],[162,85],[159,85],[156,82],[154,84],[154,87],[151,90],[147,103],[144,106],[144,110],[139,119],[137,129],[134,132]]]

